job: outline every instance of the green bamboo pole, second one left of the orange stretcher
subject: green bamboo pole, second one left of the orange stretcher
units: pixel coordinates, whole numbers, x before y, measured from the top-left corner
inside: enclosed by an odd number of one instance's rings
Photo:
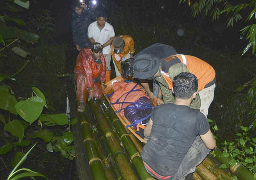
[[[122,151],[119,143],[113,134],[113,131],[109,127],[108,123],[106,122],[99,106],[99,101],[91,100],[89,102],[90,109],[92,110],[93,114],[95,115],[95,119],[98,122],[99,129],[104,134],[106,141],[110,147],[111,153],[113,154],[113,159],[118,165],[119,172],[123,178],[123,180],[137,180],[137,177],[132,170],[125,153]]]

